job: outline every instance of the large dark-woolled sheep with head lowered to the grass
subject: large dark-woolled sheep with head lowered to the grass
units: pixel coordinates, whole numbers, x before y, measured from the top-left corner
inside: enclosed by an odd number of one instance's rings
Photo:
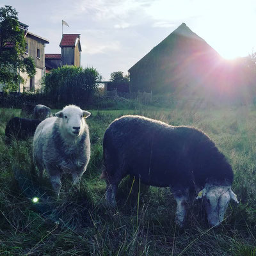
[[[189,195],[205,197],[209,225],[223,221],[230,198],[233,171],[211,139],[193,127],[164,124],[143,116],[122,116],[104,135],[106,200],[115,205],[118,184],[132,175],[144,184],[170,187],[177,201],[176,221],[184,224]]]

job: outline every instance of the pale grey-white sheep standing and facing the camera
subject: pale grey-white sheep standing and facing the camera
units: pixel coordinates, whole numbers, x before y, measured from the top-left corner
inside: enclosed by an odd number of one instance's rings
[[[60,194],[61,175],[70,173],[79,182],[90,159],[89,129],[83,117],[88,111],[70,105],[38,125],[33,140],[33,159],[40,174],[47,170],[56,195]]]

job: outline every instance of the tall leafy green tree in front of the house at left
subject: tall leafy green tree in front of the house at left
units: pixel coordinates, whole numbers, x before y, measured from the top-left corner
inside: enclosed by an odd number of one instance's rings
[[[0,8],[0,83],[5,92],[17,92],[19,83],[24,83],[20,72],[29,77],[36,74],[34,60],[23,56],[26,40],[17,15],[10,5]]]

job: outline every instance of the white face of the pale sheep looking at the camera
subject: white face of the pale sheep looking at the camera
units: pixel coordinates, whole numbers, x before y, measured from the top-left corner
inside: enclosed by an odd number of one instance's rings
[[[71,136],[79,136],[84,131],[85,121],[91,115],[90,112],[82,110],[77,106],[66,106],[55,114],[61,118],[61,130]]]

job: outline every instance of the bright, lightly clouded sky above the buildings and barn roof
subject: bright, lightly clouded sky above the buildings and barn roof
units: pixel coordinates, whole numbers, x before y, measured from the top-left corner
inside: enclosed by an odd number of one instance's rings
[[[61,53],[63,33],[81,34],[81,65],[108,81],[127,70],[182,22],[224,58],[256,51],[255,0],[0,0],[29,31],[49,40],[45,53]]]

